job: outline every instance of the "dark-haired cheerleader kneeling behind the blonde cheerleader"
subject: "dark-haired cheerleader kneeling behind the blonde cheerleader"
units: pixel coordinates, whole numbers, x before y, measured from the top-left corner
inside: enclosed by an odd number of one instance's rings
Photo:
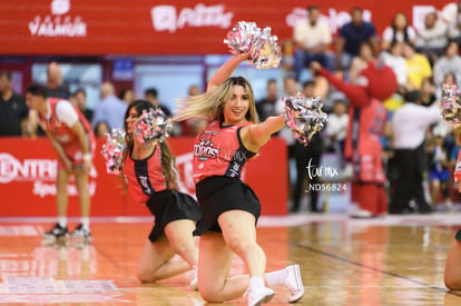
[[[146,100],[133,101],[125,115],[127,148],[122,174],[128,195],[147,205],[155,225],[145,241],[137,268],[143,283],[153,283],[186,270],[190,287],[197,289],[198,249],[193,237],[196,220],[200,218],[197,203],[177,190],[176,161],[165,141],[145,147],[135,137],[135,126],[144,110],[154,110]],[[170,260],[178,254],[185,261]]]

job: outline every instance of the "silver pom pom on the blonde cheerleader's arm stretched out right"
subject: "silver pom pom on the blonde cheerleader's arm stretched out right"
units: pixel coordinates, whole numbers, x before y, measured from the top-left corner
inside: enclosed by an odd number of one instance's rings
[[[307,146],[314,134],[326,125],[326,113],[322,111],[323,102],[320,97],[305,99],[303,93],[297,92],[296,97],[284,98],[284,103],[286,126],[297,141]]]

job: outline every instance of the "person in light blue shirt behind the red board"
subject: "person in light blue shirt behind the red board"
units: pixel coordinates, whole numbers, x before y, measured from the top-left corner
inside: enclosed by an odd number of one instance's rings
[[[101,85],[100,95],[101,100],[96,106],[92,117],[92,128],[101,121],[106,121],[110,129],[121,128],[128,105],[117,98],[114,85],[110,82]]]

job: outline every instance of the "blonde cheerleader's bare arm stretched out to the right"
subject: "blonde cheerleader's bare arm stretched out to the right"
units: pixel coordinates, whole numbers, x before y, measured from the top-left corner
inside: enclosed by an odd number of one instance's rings
[[[256,152],[263,147],[274,132],[277,132],[285,126],[283,115],[268,117],[264,122],[244,127],[241,130],[241,139],[245,148]]]

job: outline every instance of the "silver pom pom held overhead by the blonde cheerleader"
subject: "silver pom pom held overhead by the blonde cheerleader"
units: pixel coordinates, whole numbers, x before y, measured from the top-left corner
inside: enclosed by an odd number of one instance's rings
[[[282,59],[281,47],[276,36],[271,36],[271,28],[261,30],[255,22],[239,21],[224,40],[233,55],[249,52],[251,63],[257,69],[278,67]]]

